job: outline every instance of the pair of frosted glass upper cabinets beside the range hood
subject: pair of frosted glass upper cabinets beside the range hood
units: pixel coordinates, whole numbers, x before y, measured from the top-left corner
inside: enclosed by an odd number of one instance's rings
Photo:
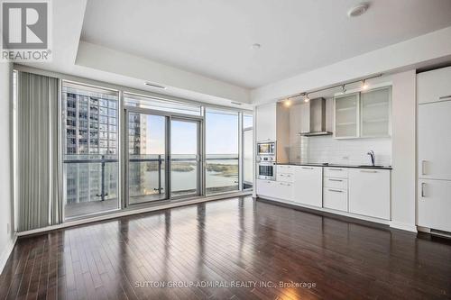
[[[391,135],[391,86],[335,98],[335,138]]]

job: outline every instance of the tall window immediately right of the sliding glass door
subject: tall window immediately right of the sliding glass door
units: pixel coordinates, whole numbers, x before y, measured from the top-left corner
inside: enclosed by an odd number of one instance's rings
[[[207,195],[238,190],[238,113],[207,109],[205,124]]]

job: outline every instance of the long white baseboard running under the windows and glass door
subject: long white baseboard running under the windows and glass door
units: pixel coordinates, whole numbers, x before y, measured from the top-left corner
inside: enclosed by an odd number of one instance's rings
[[[32,235],[32,234],[41,234],[43,232],[51,232],[54,230],[82,225],[82,224],[86,224],[86,223],[95,223],[95,222],[100,222],[100,221],[106,221],[109,219],[115,219],[115,218],[119,218],[119,217],[126,216],[126,215],[143,214],[143,213],[161,211],[162,209],[175,208],[175,207],[186,206],[186,205],[196,205],[196,204],[199,204],[202,202],[235,198],[238,196],[245,196],[245,195],[252,195],[252,191],[229,193],[229,194],[223,194],[223,195],[203,196],[203,197],[192,198],[192,199],[189,199],[186,201],[175,202],[175,203],[171,203],[171,204],[167,204],[167,205],[149,206],[149,207],[137,208],[137,209],[133,209],[133,210],[124,210],[124,211],[119,211],[117,213],[92,216],[92,217],[89,217],[86,219],[80,219],[77,221],[69,221],[67,223],[60,223],[58,225],[51,225],[51,226],[47,226],[47,227],[33,229],[30,231],[26,231],[26,232],[16,232],[16,235],[19,237],[22,237],[22,236]]]

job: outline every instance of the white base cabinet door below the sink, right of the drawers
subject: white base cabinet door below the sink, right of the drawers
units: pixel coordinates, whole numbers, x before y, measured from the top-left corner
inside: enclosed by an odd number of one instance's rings
[[[390,220],[390,170],[350,168],[349,213]]]

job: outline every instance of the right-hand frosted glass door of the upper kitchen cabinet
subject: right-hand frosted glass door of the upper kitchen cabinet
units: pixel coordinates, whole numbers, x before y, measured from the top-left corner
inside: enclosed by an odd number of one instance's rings
[[[361,137],[391,135],[391,86],[362,92],[361,107]]]

